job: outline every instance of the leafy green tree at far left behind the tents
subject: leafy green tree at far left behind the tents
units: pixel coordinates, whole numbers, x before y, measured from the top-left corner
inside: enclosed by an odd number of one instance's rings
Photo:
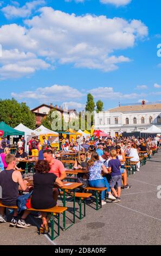
[[[35,114],[24,102],[18,103],[14,98],[0,100],[0,121],[4,121],[13,128],[20,123],[30,129],[35,129],[36,126]]]

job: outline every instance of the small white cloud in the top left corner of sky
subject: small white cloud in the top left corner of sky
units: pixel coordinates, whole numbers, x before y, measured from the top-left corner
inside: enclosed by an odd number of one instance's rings
[[[18,2],[12,1],[12,4],[16,5],[7,5],[6,7],[3,7],[1,11],[4,13],[4,16],[7,17],[7,19],[11,19],[14,17],[29,17],[34,9],[36,9],[40,5],[44,5],[46,2],[43,0],[36,0],[33,2],[27,2],[23,7],[19,7]]]

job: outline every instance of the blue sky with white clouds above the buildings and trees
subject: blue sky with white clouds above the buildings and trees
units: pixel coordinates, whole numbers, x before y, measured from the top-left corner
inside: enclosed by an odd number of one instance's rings
[[[159,101],[160,0],[0,1],[1,98],[82,109]]]

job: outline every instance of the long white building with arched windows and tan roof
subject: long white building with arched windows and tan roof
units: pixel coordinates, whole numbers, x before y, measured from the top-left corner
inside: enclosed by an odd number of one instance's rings
[[[110,133],[143,131],[152,124],[161,128],[161,103],[119,106],[94,115],[95,129]]]

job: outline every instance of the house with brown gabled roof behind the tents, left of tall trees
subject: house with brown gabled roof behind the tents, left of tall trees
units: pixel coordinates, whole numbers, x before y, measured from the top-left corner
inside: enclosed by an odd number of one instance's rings
[[[42,104],[34,109],[31,109],[31,112],[33,112],[36,116],[36,126],[41,125],[42,120],[46,118],[49,112],[53,109],[60,112],[66,122],[78,118],[78,113],[76,113],[75,109],[67,109],[66,106],[63,108],[61,108],[61,106],[58,107],[57,105],[53,106],[52,103],[50,105]]]

